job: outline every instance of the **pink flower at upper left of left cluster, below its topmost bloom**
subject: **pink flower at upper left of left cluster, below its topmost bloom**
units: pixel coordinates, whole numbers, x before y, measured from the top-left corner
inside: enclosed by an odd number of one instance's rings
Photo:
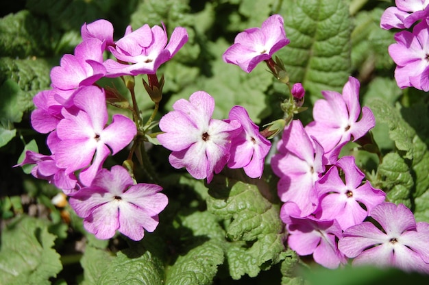
[[[51,70],[53,88],[73,92],[79,86],[90,86],[103,77],[106,74],[103,66],[105,45],[97,38],[88,38],[77,45],[75,55],[63,55],[60,66]]]

